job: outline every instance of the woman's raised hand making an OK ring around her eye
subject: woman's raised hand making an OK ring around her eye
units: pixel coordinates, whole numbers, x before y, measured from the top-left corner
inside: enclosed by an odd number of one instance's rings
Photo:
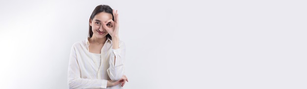
[[[102,22],[103,27],[105,28],[105,30],[111,35],[111,37],[118,37],[118,28],[119,28],[119,20],[118,20],[118,13],[117,10],[115,11],[113,9],[113,17],[114,17],[114,21],[108,20],[106,22]],[[111,23],[112,26],[107,26],[108,23]]]

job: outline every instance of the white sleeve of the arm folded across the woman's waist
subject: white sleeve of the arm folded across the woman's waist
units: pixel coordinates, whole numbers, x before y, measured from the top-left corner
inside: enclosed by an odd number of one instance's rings
[[[81,78],[81,71],[78,65],[76,49],[73,46],[70,53],[68,65],[69,89],[92,89],[106,88],[107,80]]]

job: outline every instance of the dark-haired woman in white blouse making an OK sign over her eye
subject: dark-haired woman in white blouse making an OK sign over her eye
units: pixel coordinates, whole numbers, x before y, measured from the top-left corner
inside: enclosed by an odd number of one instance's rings
[[[70,89],[122,89],[125,44],[119,40],[117,10],[98,5],[89,19],[89,37],[72,46],[68,85]]]

